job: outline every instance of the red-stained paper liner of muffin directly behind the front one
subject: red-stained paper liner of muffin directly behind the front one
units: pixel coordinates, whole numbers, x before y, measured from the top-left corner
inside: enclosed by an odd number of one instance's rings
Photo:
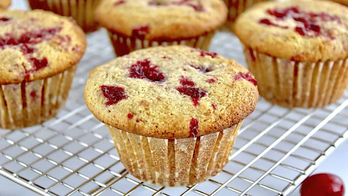
[[[161,40],[146,40],[135,37],[128,37],[122,33],[108,30],[110,41],[116,53],[116,56],[123,56],[152,46],[171,46],[171,45],[187,45],[201,50],[208,51],[214,32],[209,32],[201,36],[181,39],[161,39]]]

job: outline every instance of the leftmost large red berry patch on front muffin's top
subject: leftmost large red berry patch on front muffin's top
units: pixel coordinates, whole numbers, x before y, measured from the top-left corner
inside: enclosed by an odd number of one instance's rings
[[[125,89],[119,86],[102,85],[100,89],[103,96],[108,99],[105,103],[106,106],[117,104],[120,100],[128,98]]]

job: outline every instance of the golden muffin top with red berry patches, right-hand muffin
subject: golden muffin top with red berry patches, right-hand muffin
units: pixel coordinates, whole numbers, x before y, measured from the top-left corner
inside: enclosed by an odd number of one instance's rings
[[[325,61],[348,56],[348,8],[331,1],[264,2],[243,13],[235,33],[277,58]]]

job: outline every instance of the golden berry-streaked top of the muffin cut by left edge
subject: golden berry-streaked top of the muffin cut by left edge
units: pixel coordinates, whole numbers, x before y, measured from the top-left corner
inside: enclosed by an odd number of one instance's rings
[[[84,32],[67,17],[42,10],[0,12],[0,84],[61,73],[85,49]]]

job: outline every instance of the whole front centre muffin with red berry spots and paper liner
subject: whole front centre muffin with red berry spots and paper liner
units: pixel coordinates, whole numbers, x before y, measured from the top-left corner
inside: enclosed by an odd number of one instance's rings
[[[227,164],[258,101],[256,84],[216,53],[158,46],[91,71],[85,100],[129,173],[157,186],[190,186]]]

